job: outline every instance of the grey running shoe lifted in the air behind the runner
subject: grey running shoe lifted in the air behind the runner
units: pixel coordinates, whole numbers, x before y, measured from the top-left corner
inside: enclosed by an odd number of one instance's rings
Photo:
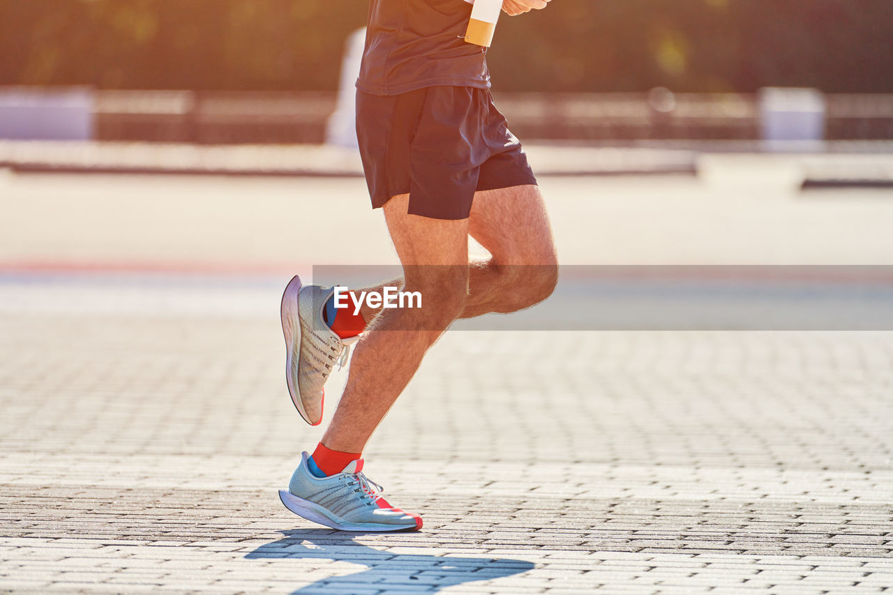
[[[285,379],[297,412],[307,423],[319,425],[325,398],[323,386],[332,366],[343,366],[350,344],[359,337],[341,339],[322,320],[322,311],[335,288],[301,285],[295,276],[282,294],[280,315],[285,336]]]

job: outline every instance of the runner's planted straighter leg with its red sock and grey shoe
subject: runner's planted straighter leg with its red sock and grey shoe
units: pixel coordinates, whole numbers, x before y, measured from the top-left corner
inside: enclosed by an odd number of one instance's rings
[[[356,344],[347,386],[313,456],[280,490],[296,515],[346,531],[421,528],[421,516],[393,507],[363,474],[361,454],[430,346],[462,313],[468,294],[468,220],[407,214],[407,195],[384,205],[388,230],[404,266],[404,289],[421,307],[384,310]],[[313,331],[311,331],[313,333]]]

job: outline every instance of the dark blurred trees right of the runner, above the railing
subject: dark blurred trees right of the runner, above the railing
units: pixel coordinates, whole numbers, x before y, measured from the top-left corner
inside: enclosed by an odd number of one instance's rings
[[[893,2],[555,0],[501,21],[489,63],[505,90],[893,92]]]

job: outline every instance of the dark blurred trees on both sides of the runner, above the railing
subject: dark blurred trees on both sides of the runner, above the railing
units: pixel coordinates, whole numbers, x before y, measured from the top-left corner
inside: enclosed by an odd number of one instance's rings
[[[333,89],[365,16],[358,0],[0,0],[0,84]],[[555,0],[504,17],[488,60],[503,90],[893,92],[891,40],[893,0]]]

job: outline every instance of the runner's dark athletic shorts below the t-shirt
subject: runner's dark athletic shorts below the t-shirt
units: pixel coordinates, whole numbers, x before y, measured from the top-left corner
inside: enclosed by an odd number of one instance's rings
[[[356,133],[373,208],[408,193],[410,214],[467,219],[475,191],[537,183],[489,89],[357,91]]]

